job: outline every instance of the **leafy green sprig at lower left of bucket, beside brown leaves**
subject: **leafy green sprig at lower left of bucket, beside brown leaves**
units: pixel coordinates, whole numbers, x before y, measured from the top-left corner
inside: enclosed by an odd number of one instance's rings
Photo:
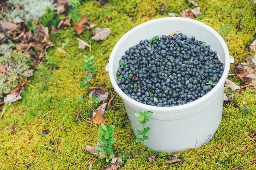
[[[112,150],[113,144],[116,142],[116,139],[112,138],[113,133],[114,133],[114,126],[109,125],[108,127],[104,125],[103,123],[101,124],[102,129],[98,129],[98,133],[103,136],[102,138],[98,137],[97,140],[100,144],[102,145],[97,145],[95,147],[96,150],[102,150],[99,155],[102,158],[105,158],[106,161],[108,162],[113,158],[114,152]],[[107,151],[107,153],[105,152]],[[108,156],[109,154],[109,156]]]

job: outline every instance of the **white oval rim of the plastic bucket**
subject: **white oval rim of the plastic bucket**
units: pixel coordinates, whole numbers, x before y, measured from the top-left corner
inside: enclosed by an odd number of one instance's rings
[[[193,24],[197,24],[198,26],[201,26],[205,29],[208,29],[209,31],[212,32],[212,34],[219,40],[219,42],[221,43],[221,46],[223,47],[224,50],[224,54],[225,54],[225,65],[224,65],[224,72],[221,76],[221,79],[219,80],[219,82],[217,83],[217,85],[215,85],[214,88],[212,88],[211,91],[209,91],[209,93],[205,94],[203,97],[201,97],[200,99],[196,99],[193,102],[184,104],[184,105],[179,105],[179,106],[169,106],[169,107],[158,107],[158,106],[151,106],[151,105],[146,105],[140,102],[137,102],[134,99],[131,99],[129,96],[127,96],[117,85],[116,80],[114,78],[114,74],[113,74],[113,61],[114,61],[114,56],[116,55],[116,51],[118,50],[119,46],[121,45],[121,43],[130,35],[133,34],[134,32],[136,32],[139,28],[144,27],[144,26],[148,26],[152,23],[157,23],[157,22],[163,22],[163,21],[184,21],[184,22],[188,22],[188,23],[193,23]],[[227,79],[227,75],[228,72],[230,70],[230,55],[229,55],[229,51],[227,48],[227,44],[225,43],[225,41],[223,40],[223,38],[217,33],[217,31],[215,31],[213,28],[211,28],[210,26],[207,26],[204,23],[201,23],[200,21],[197,20],[193,20],[193,19],[189,19],[189,18],[183,18],[183,17],[163,17],[163,18],[157,18],[154,20],[150,20],[147,21],[145,23],[141,23],[140,25],[132,28],[130,31],[128,31],[127,33],[125,33],[120,39],[119,41],[116,43],[116,45],[114,46],[111,55],[110,55],[110,59],[109,59],[109,77],[111,80],[111,84],[113,85],[113,88],[115,89],[115,91],[117,92],[117,94],[122,98],[125,99],[127,102],[130,102],[132,105],[136,105],[138,108],[141,108],[143,110],[146,111],[152,111],[152,112],[163,112],[163,113],[174,113],[174,112],[180,112],[180,111],[185,111],[185,110],[189,110],[191,108],[195,108],[198,105],[201,105],[205,100],[209,99],[213,94],[215,94],[221,87],[222,85],[224,85],[226,79]]]

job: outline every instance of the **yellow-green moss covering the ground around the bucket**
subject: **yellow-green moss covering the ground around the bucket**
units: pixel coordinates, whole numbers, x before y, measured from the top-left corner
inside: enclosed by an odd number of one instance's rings
[[[253,0],[197,0],[201,7],[201,16],[196,18],[203,23],[220,30],[224,23],[233,25],[228,37],[230,54],[241,61],[247,57],[247,45],[255,37],[256,4]],[[165,11],[161,11],[163,5]],[[83,65],[82,57],[78,54],[94,55],[95,66],[98,71],[94,73],[91,86],[105,87],[107,91],[113,91],[105,65],[115,43],[125,32],[147,20],[159,17],[168,17],[168,13],[180,13],[186,8],[192,8],[186,0],[109,0],[101,6],[95,0],[83,1],[81,7],[82,15],[88,15],[89,21],[97,23],[100,27],[108,27],[111,34],[107,40],[96,42],[91,40],[92,51],[78,49],[76,38],[85,42],[90,41],[93,30],[84,31],[76,35],[74,28],[66,28],[51,35],[56,47],[48,51],[44,62],[47,63],[49,71],[52,70],[52,61],[56,62],[58,70],[48,78],[49,86],[46,90],[40,87],[41,79],[38,79],[38,71],[26,86],[22,99],[11,106],[6,107],[3,118],[0,120],[0,169],[53,169],[73,170],[88,169],[93,163],[93,170],[104,168],[107,163],[98,157],[92,156],[84,150],[87,144],[96,143],[97,129],[99,126],[92,122],[75,121],[76,111],[79,108],[76,102],[78,96],[84,96],[81,102],[81,114],[86,119],[92,115],[87,106],[87,88],[80,88],[80,82],[84,78],[84,71],[80,69]],[[231,14],[222,11],[230,10]],[[108,17],[108,23],[103,20]],[[241,24],[241,31],[236,27]],[[58,47],[67,51],[67,55],[58,52]],[[51,61],[51,62],[49,62]],[[92,91],[93,88],[90,88]],[[141,154],[142,145],[135,142],[130,122],[127,119],[121,98],[114,93],[114,105],[107,110],[105,119],[108,125],[115,126],[114,137],[116,140],[116,155],[121,155],[125,164],[121,170],[143,170],[143,169],[232,169],[240,166],[240,169],[256,169],[256,150],[242,155],[243,151],[256,147],[256,143],[250,139],[250,135],[256,131],[256,90],[247,89],[241,94],[235,93],[233,104],[224,104],[223,119],[214,138],[208,144],[197,149],[179,151],[180,164],[167,164],[166,158],[156,159],[153,164],[143,159]],[[243,102],[249,113],[241,113],[244,108]],[[15,105],[17,108],[14,109]],[[2,108],[2,109],[3,109]],[[13,110],[14,109],[14,110]],[[44,116],[45,113],[49,112]],[[12,127],[17,126],[17,132],[12,132]],[[48,129],[49,133],[44,134]],[[189,140],[189,139],[186,139]],[[47,146],[47,147],[45,147]],[[51,147],[51,148],[48,148]],[[225,161],[232,153],[229,161]],[[137,153],[132,157],[132,153]],[[157,152],[146,149],[145,155],[156,155]],[[165,156],[167,153],[159,153]],[[216,161],[218,159],[218,161]],[[253,161],[254,159],[254,161]]]

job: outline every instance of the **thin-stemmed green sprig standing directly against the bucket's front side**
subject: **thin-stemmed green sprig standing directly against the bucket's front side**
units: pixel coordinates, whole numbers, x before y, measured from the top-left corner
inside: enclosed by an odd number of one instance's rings
[[[134,115],[137,118],[140,118],[140,120],[138,121],[138,124],[142,124],[143,125],[143,129],[142,130],[135,130],[135,133],[137,135],[142,136],[142,138],[137,138],[136,142],[142,142],[142,154],[143,154],[143,158],[145,158],[144,156],[144,141],[148,141],[148,136],[146,136],[147,132],[151,129],[151,127],[146,127],[145,128],[145,123],[149,123],[150,120],[148,118],[146,118],[147,116],[152,115],[153,112],[151,111],[144,111],[143,109],[140,109],[140,113],[135,113]]]

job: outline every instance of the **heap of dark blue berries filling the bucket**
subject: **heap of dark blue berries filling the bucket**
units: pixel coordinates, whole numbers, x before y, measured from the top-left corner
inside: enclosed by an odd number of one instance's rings
[[[185,34],[141,40],[125,51],[117,85],[129,97],[152,106],[177,106],[207,94],[224,67],[206,42]]]

